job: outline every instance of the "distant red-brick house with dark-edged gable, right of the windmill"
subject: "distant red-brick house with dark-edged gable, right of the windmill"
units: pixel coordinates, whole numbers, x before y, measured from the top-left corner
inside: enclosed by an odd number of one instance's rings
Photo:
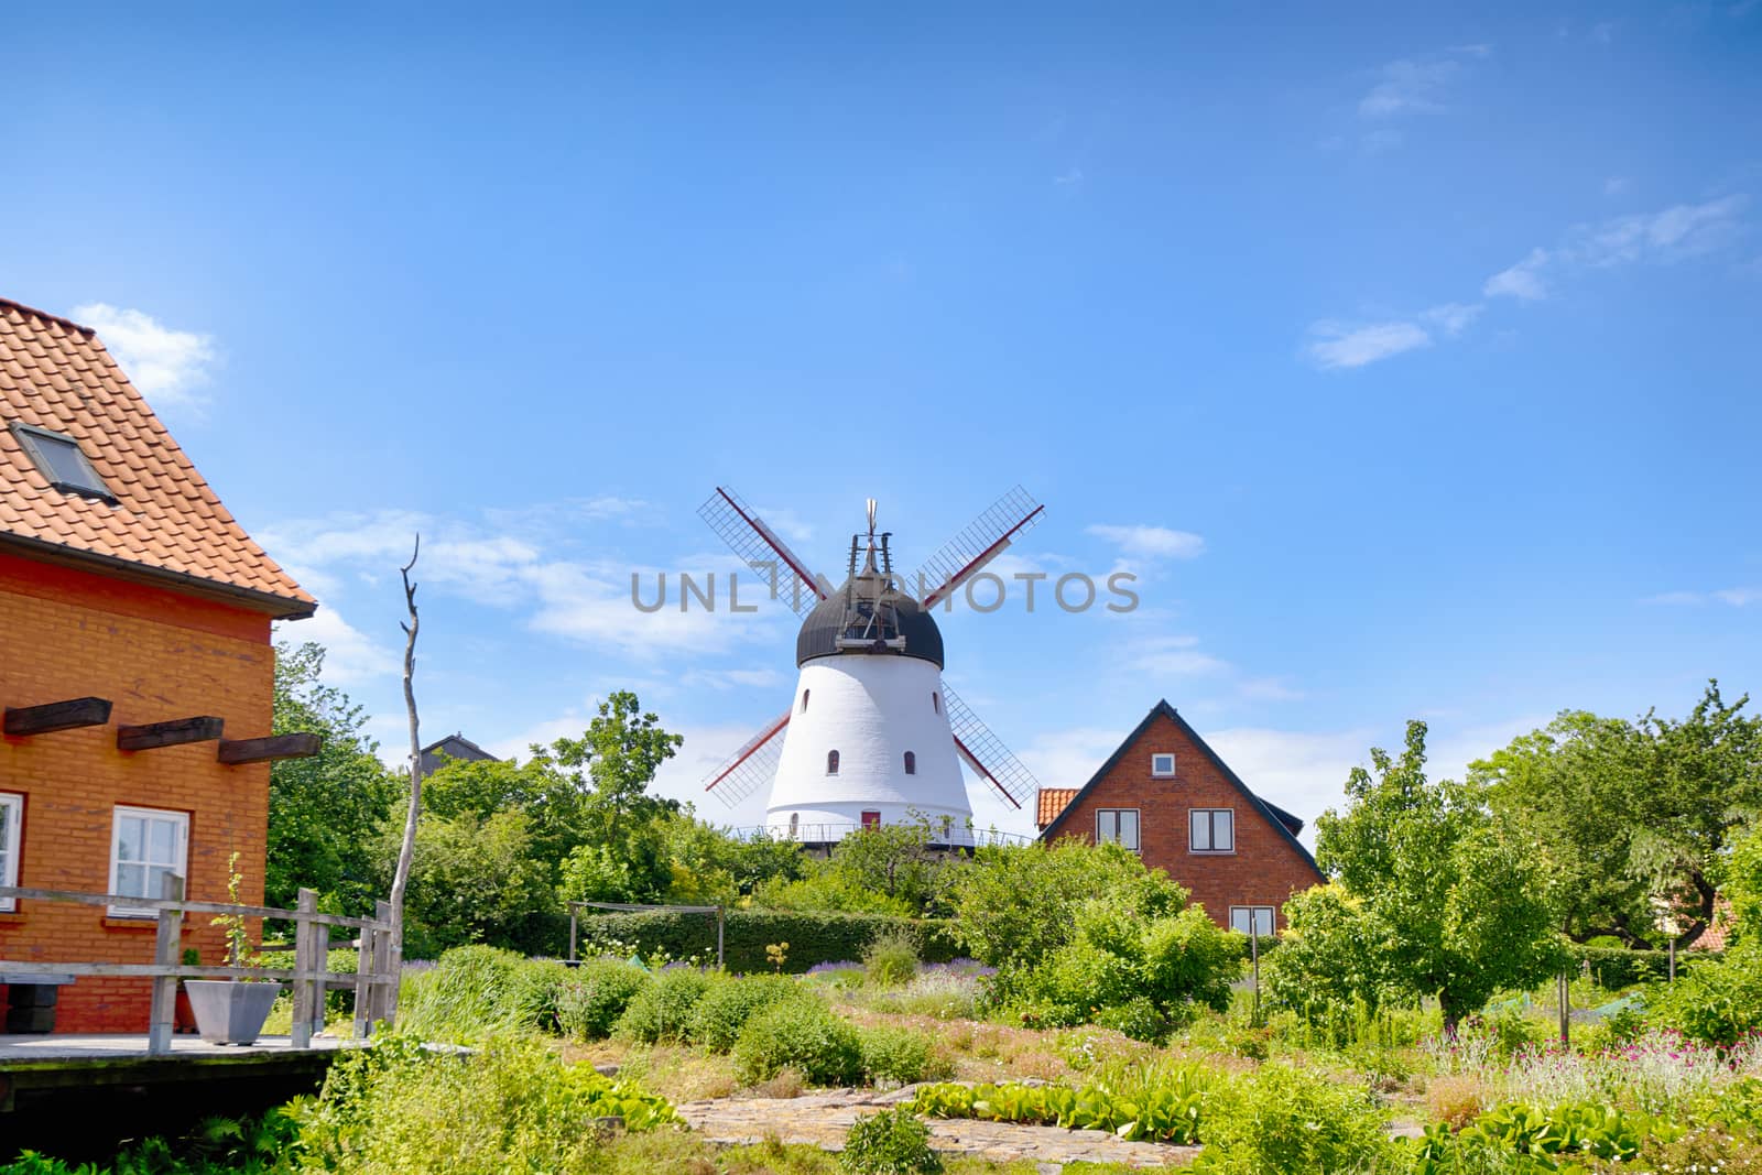
[[[1219,925],[1262,934],[1284,900],[1323,881],[1304,823],[1253,791],[1166,701],[1082,787],[1043,787],[1041,840],[1117,840],[1193,891]]]

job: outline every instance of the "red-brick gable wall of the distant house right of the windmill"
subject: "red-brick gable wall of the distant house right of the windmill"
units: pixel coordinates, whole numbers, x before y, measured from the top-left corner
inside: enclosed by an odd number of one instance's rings
[[[1175,756],[1175,777],[1151,775],[1152,754]],[[1124,749],[1107,775],[1066,809],[1054,837],[1094,842],[1099,809],[1138,809],[1138,844],[1144,863],[1166,870],[1193,891],[1193,900],[1219,925],[1230,925],[1232,905],[1272,905],[1279,927],[1292,893],[1322,883],[1260,809],[1225,777],[1179,722],[1152,713],[1147,728]],[[1235,853],[1196,854],[1188,842],[1189,809],[1232,809]]]

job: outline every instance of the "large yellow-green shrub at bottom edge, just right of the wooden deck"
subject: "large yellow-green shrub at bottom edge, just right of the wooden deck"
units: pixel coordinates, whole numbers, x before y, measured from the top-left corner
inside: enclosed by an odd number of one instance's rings
[[[314,1168],[352,1175],[590,1171],[603,1119],[631,1131],[678,1120],[666,1099],[530,1038],[435,1053],[402,1034],[345,1050],[322,1094],[289,1113]]]

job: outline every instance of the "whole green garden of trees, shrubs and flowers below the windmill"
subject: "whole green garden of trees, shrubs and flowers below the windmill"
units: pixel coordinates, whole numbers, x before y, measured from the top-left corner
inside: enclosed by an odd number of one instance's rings
[[[347,754],[359,715],[308,668],[289,696],[354,721]],[[580,742],[437,773],[396,1031],[312,1097],[109,1170],[1038,1170],[937,1154],[939,1124],[992,1122],[1240,1175],[1762,1171],[1762,722],[1716,685],[1679,721],[1563,713],[1464,780],[1410,724],[1318,821],[1329,884],[1253,960],[1117,846],[738,840],[647,793],[675,745],[618,696]],[[395,826],[368,757],[356,800]],[[277,786],[285,819],[352,784]],[[282,833],[337,909],[374,891],[372,842]],[[583,918],[560,962],[571,900],[726,904],[726,965],[714,918],[664,911]],[[687,1124],[851,1087],[900,1096],[842,1149]]]

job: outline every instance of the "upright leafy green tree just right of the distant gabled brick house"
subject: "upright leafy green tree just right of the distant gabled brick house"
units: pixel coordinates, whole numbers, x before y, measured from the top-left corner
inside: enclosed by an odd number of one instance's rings
[[[1425,724],[1406,747],[1371,750],[1346,780],[1346,810],[1316,821],[1316,861],[1362,904],[1388,985],[1436,995],[1445,1024],[1499,988],[1563,965],[1554,913],[1531,846],[1505,833],[1480,793],[1425,777]]]

